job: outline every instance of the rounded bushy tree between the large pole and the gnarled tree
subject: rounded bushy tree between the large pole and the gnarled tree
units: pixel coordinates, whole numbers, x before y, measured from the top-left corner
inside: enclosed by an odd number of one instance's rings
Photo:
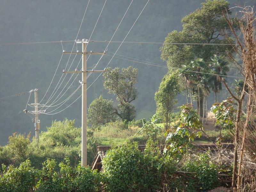
[[[112,100],[103,99],[100,95],[89,105],[87,121],[93,128],[115,120],[116,114]]]

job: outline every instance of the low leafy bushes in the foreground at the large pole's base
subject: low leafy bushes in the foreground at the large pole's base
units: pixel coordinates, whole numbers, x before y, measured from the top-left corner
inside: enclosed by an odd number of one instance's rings
[[[48,159],[44,162],[36,191],[93,192],[101,186],[100,175],[96,171],[80,165],[72,167],[68,157],[65,157],[64,162],[61,162],[59,167],[60,176],[55,171],[57,168],[56,161]]]

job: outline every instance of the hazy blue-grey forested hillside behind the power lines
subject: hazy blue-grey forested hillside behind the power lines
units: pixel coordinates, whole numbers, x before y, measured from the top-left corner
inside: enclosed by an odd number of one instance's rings
[[[90,1],[84,22],[81,26],[78,39],[89,39],[92,34],[94,25],[98,19],[100,11],[105,1],[94,0]],[[133,22],[136,20],[140,11],[147,1],[134,0],[123,23],[120,25],[117,33],[112,41],[122,41],[130,30]],[[127,36],[125,41],[131,42],[164,42],[165,37],[172,30],[180,31],[182,29],[181,19],[190,12],[200,7],[203,0],[180,0],[180,1],[149,1],[144,12],[141,14],[132,31]],[[254,0],[230,0],[230,7],[237,5],[256,5]],[[0,98],[14,95],[21,92],[28,92],[31,89],[38,88],[39,101],[43,98],[52,81],[52,77],[58,66],[62,55],[61,43],[42,43],[42,44],[15,44],[23,42],[49,42],[49,41],[70,41],[75,40],[81,20],[84,15],[84,10],[88,1],[66,1],[56,0],[48,1],[1,1],[0,2]],[[118,23],[122,19],[124,12],[129,6],[130,1],[125,0],[108,0],[104,7],[99,22],[92,34],[91,40],[105,41],[110,40]],[[8,45],[7,45],[8,44]],[[120,43],[119,43],[120,44]],[[110,60],[110,56],[116,52],[119,46],[118,43],[111,43],[108,47],[107,54],[102,58],[97,70],[106,67]],[[72,50],[73,42],[63,42],[63,49],[67,52]],[[103,52],[107,44],[89,43],[87,50]],[[168,68],[162,68],[152,65],[146,65],[138,62],[129,61],[131,58],[144,60],[147,62],[157,63],[158,65],[166,66],[166,62],[160,59],[160,47],[162,44],[138,44],[124,43],[116,57],[121,57],[128,60],[114,58],[109,67],[128,67],[138,68],[138,84],[136,84],[139,95],[133,101],[136,107],[136,118],[148,118],[155,114],[156,104],[154,100],[155,92],[158,90],[159,84],[167,73]],[[74,50],[76,51],[76,45]],[[81,52],[81,47],[78,47]],[[123,55],[123,56],[120,56]],[[63,55],[60,66],[56,71],[52,85],[47,92],[42,103],[46,102],[60,80],[62,70],[66,65],[70,70],[75,70],[79,63],[80,56],[72,55],[68,61],[69,55]],[[87,65],[90,70],[99,60],[100,56],[92,55],[88,59]],[[78,70],[81,68],[79,64]],[[228,75],[236,75],[235,70],[231,70]],[[63,85],[56,93],[51,104],[57,98],[60,91],[71,75],[63,81]],[[94,74],[88,78],[88,86],[97,78],[98,74]],[[70,83],[74,80],[71,78]],[[60,103],[65,100],[79,86],[78,76],[70,89],[59,100]],[[115,98],[109,95],[107,90],[103,89],[103,77],[100,78],[88,89],[87,104],[92,102],[94,98],[103,94],[105,99]],[[227,79],[231,84],[233,79]],[[70,84],[68,84],[69,86]],[[34,93],[31,94],[29,103],[34,102]],[[60,112],[62,109],[70,105],[81,95],[81,91],[76,92],[63,106],[51,107],[47,109],[50,114],[55,115],[40,115],[41,130],[46,130],[46,126],[51,126],[52,121],[68,119],[76,119],[76,126],[81,125],[81,100],[78,99],[71,107]],[[228,96],[224,90],[220,94],[220,100]],[[4,145],[8,141],[8,136],[13,132],[28,133],[34,135],[34,125],[31,117],[25,115],[23,110],[28,101],[29,94],[13,97],[11,99],[0,101],[0,145]],[[209,105],[214,102],[213,93],[209,96]],[[185,93],[181,93],[178,97],[179,105],[186,103]],[[56,110],[55,110],[56,109]],[[34,110],[28,107],[28,110]],[[54,110],[54,111],[53,111]],[[51,112],[52,111],[52,112]],[[58,113],[60,112],[60,113]]]

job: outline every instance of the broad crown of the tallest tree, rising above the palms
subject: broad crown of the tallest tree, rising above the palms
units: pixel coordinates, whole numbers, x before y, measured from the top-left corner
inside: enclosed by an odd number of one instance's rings
[[[229,3],[225,0],[206,0],[200,9],[185,16],[181,22],[183,30],[172,31],[165,38],[161,48],[161,58],[167,61],[169,67],[180,67],[187,65],[191,60],[202,58],[210,61],[213,54],[223,54],[231,50],[230,45],[192,45],[192,44],[171,44],[171,43],[228,43],[223,30],[228,24],[223,14],[226,14]],[[236,22],[234,22],[234,25]],[[229,33],[228,33],[229,35]],[[230,34],[231,35],[231,34]]]

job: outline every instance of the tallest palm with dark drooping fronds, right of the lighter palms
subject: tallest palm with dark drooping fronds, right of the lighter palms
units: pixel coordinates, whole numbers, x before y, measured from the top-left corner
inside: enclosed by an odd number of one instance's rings
[[[228,62],[224,60],[224,56],[218,57],[213,55],[211,58],[211,68],[212,73],[216,74],[213,79],[212,91],[215,93],[215,103],[217,102],[217,93],[218,93],[218,102],[220,102],[220,90],[222,89],[221,75],[227,75],[229,71]]]

